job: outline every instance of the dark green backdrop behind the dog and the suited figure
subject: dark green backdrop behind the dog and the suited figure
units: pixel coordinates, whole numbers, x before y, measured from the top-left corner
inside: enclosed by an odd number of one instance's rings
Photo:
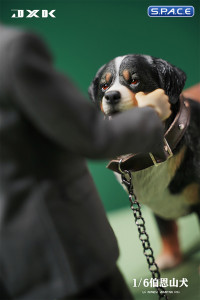
[[[148,17],[149,5],[163,4],[193,5],[195,16]],[[56,18],[12,19],[11,9],[56,9]],[[129,53],[149,54],[177,65],[188,76],[186,87],[200,81],[198,0],[1,0],[0,18],[4,24],[38,32],[54,54],[56,67],[73,78],[85,95],[102,64]],[[105,166],[106,162],[89,162],[106,209],[127,205],[124,191]]]

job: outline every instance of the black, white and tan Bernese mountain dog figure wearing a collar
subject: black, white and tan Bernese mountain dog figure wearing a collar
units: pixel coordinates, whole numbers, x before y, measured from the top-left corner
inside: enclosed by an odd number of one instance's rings
[[[185,80],[182,70],[163,59],[131,54],[103,65],[89,87],[91,100],[108,118],[144,106],[137,100],[139,92],[162,89],[169,97],[171,115],[162,120],[166,159],[153,153],[126,154],[108,166],[121,182],[117,162],[122,159],[122,167],[132,172],[138,201],[154,212],[163,245],[157,259],[162,269],[182,260],[175,220],[192,212],[200,218],[200,103],[182,96]]]

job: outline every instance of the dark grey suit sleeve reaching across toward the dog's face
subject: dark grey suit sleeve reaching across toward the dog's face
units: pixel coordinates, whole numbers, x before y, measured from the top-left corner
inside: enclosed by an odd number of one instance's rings
[[[161,147],[162,125],[153,109],[137,108],[105,121],[54,69],[37,36],[25,33],[15,40],[9,62],[13,101],[40,131],[66,149],[88,158],[110,158],[153,151],[155,144]]]

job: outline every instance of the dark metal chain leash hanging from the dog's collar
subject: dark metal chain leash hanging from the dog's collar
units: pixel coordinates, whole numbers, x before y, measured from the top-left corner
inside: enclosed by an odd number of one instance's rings
[[[133,215],[135,218],[135,224],[137,225],[137,229],[139,232],[139,239],[142,242],[142,246],[143,246],[143,253],[146,257],[147,263],[148,263],[148,268],[149,271],[151,272],[152,278],[153,279],[157,279],[158,282],[160,282],[160,272],[158,269],[158,266],[155,262],[155,258],[154,258],[154,254],[153,254],[153,250],[151,248],[150,245],[150,241],[149,241],[149,235],[146,232],[146,227],[145,227],[145,220],[142,217],[142,212],[141,212],[141,206],[137,201],[137,197],[135,195],[134,189],[133,189],[133,184],[132,184],[132,175],[130,171],[122,171],[120,165],[121,165],[121,161],[119,161],[119,171],[121,172],[121,178],[122,178],[122,184],[124,184],[128,190],[129,193],[129,201],[131,204],[131,209],[133,211]],[[127,179],[128,177],[128,179]],[[159,284],[158,284],[159,285]],[[165,293],[165,289],[163,287],[155,287],[157,292],[158,292],[158,296],[159,299],[167,299],[168,297]]]

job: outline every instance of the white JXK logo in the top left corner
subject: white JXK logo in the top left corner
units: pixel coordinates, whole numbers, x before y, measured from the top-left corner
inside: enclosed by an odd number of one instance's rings
[[[14,13],[12,14],[11,18],[56,18],[55,14],[55,9],[49,11],[47,9],[11,9]]]

